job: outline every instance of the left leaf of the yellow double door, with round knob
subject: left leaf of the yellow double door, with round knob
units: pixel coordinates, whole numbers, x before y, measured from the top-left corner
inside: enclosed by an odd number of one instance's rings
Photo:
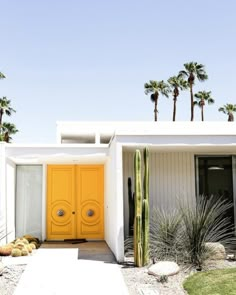
[[[75,169],[72,165],[50,165],[47,170],[47,239],[76,237]]]

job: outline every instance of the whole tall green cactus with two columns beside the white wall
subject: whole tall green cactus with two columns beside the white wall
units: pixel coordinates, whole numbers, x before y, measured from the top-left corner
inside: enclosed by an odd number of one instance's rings
[[[141,185],[141,153],[134,157],[135,216],[134,216],[134,262],[143,266],[149,262],[149,152],[144,150],[143,196]]]

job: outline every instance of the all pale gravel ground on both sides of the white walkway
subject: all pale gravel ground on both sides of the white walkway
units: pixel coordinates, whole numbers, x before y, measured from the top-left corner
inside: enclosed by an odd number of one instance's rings
[[[1,295],[13,295],[25,267],[26,265],[5,266],[0,276]],[[236,261],[211,261],[207,263],[206,270],[228,267],[236,267]],[[191,273],[194,273],[181,270],[177,275],[168,277],[167,282],[161,283],[156,277],[148,274],[147,267],[134,267],[130,260],[121,264],[120,268],[130,295],[186,295],[182,283]]]

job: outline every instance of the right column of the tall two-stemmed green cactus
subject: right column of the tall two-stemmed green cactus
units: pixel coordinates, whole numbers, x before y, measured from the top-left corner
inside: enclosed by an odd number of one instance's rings
[[[144,149],[144,181],[143,181],[143,265],[149,262],[149,151]]]

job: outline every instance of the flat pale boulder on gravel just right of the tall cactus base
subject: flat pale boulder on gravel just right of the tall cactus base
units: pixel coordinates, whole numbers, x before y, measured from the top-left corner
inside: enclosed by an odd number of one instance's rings
[[[154,276],[173,276],[179,271],[178,264],[173,261],[159,261],[148,269],[148,273]]]

